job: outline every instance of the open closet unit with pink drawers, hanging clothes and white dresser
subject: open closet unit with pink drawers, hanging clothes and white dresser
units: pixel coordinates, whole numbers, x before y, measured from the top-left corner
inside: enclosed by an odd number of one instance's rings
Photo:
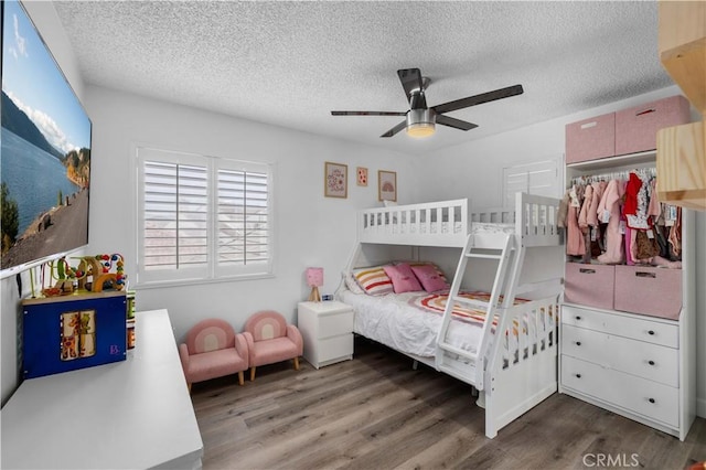
[[[566,127],[559,392],[684,440],[696,414],[694,214],[655,190],[674,96]]]

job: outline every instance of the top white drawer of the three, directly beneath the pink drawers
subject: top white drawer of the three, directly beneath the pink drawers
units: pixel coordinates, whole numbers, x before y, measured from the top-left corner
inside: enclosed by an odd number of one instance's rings
[[[680,331],[676,323],[643,320],[619,312],[610,313],[563,306],[561,323],[663,346],[678,348],[680,344]]]

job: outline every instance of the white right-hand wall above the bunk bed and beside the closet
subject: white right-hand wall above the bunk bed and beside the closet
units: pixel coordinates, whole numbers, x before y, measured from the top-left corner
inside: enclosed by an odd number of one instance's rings
[[[616,111],[651,100],[680,94],[676,86],[660,89],[569,116],[485,139],[449,147],[429,156],[419,196],[422,200],[470,197],[474,207],[500,206],[503,167],[563,158],[565,126],[606,113]],[[698,119],[698,115],[694,114]],[[564,186],[564,185],[561,185]],[[696,286],[706,285],[706,213],[696,214]],[[696,337],[706,338],[706,290],[698,289],[696,299]],[[697,413],[706,417],[706,342],[697,342]]]

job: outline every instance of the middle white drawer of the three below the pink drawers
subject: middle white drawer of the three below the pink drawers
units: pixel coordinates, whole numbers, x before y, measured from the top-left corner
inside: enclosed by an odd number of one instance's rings
[[[680,385],[678,351],[565,324],[561,354],[627,372],[650,381]]]

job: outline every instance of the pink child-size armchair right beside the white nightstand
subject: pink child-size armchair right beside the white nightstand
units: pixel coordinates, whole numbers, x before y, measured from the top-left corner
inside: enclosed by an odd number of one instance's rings
[[[255,380],[258,365],[295,360],[299,370],[299,356],[303,353],[301,333],[293,324],[287,324],[285,317],[274,310],[254,313],[246,322],[243,335],[247,342],[250,382]]]

